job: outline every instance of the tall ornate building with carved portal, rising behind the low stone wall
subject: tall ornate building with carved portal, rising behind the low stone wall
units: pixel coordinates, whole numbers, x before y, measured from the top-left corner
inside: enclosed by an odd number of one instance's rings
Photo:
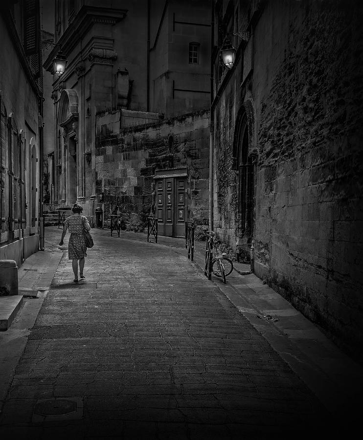
[[[53,77],[55,170],[49,185],[61,208],[74,202],[94,216],[96,113],[120,110],[121,126],[210,101],[210,4],[207,0],[55,1],[54,41],[68,59]],[[46,97],[48,99],[48,97]],[[53,161],[53,162],[52,162]]]

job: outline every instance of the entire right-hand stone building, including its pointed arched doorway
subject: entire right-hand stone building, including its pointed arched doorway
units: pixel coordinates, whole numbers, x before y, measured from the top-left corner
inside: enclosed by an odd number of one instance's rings
[[[361,358],[362,12],[215,1],[211,108],[214,229],[243,258],[253,245],[254,272]]]

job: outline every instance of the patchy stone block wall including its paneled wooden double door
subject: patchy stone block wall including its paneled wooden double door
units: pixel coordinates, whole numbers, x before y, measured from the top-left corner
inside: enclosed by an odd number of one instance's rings
[[[179,237],[185,221],[197,231],[208,225],[209,116],[209,109],[186,112],[119,129],[121,110],[97,115],[96,193],[106,225],[119,214],[123,229],[143,231],[155,215],[159,234]]]

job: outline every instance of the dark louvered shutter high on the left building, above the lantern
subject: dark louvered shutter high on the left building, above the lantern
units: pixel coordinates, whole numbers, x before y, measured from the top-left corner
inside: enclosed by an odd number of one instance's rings
[[[39,0],[24,1],[24,50],[26,56],[39,51]]]

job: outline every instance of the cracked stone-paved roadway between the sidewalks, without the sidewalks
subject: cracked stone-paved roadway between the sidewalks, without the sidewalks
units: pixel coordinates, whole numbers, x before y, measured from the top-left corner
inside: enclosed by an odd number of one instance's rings
[[[98,235],[84,273],[72,282],[65,252],[16,368],[1,435],[281,439],[331,423],[218,286],[172,248]],[[47,398],[75,401],[78,412],[35,417]]]

